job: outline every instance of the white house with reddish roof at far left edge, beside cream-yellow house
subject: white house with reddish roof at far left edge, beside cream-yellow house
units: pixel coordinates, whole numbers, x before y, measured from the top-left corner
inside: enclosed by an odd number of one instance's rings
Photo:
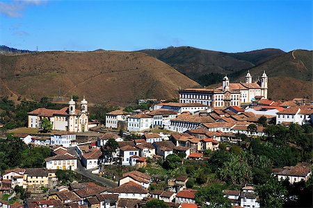
[[[14,168],[4,172],[1,181],[2,186],[9,187],[10,189],[14,189],[16,186],[23,187],[25,169]]]

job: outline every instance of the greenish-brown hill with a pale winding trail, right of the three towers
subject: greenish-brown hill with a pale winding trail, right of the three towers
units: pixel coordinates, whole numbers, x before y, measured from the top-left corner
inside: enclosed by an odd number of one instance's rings
[[[312,57],[313,51],[290,51],[253,67],[250,73],[257,78],[266,71],[268,96],[274,100],[304,97],[312,99]],[[239,71],[234,80],[243,81],[246,73]]]

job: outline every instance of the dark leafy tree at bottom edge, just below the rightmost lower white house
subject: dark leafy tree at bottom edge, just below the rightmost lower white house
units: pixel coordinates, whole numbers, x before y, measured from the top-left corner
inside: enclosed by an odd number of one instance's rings
[[[257,186],[257,193],[259,198],[261,198],[262,207],[281,208],[284,204],[287,190],[276,177],[271,177],[265,184]]]

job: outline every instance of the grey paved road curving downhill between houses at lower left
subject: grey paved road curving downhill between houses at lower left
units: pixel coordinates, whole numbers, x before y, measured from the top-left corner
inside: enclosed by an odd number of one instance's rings
[[[77,154],[75,148],[67,148],[67,150],[69,153],[71,153],[72,155],[76,155],[77,158],[79,158],[79,155]],[[84,168],[83,165],[81,164],[80,159],[77,161],[77,170],[75,170],[75,172],[80,173],[81,175],[88,177],[91,180],[94,180],[95,182],[98,182],[99,184],[102,184],[106,187],[118,187],[118,184],[116,182],[106,179],[105,177],[95,175],[91,173],[90,170],[86,170],[86,168]]]

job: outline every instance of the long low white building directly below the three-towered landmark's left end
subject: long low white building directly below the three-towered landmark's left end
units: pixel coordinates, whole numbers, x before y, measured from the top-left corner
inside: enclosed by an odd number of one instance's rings
[[[202,110],[207,110],[207,105],[201,103],[163,103],[163,109],[174,110],[176,112],[199,112]]]

